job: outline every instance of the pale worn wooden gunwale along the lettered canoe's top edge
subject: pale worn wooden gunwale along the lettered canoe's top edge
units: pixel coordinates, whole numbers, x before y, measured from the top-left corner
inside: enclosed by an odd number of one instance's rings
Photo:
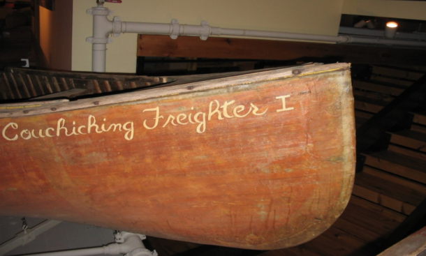
[[[223,77],[214,80],[189,82],[186,84],[161,86],[155,88],[142,89],[128,93],[119,93],[110,96],[98,96],[80,100],[52,100],[52,101],[31,101],[30,103],[12,103],[0,105],[0,118],[13,118],[22,116],[34,116],[38,114],[48,114],[52,112],[64,112],[70,110],[81,110],[89,107],[99,107],[117,104],[137,104],[142,100],[152,100],[184,93],[202,92],[212,89],[219,89],[226,86],[238,86],[242,84],[254,84],[268,80],[279,80],[289,77],[303,77],[318,73],[328,73],[336,70],[349,68],[347,63],[334,63],[328,65],[307,65],[302,67],[280,68],[275,70],[260,71],[248,75],[236,75],[233,77]],[[30,104],[30,105],[28,105]]]

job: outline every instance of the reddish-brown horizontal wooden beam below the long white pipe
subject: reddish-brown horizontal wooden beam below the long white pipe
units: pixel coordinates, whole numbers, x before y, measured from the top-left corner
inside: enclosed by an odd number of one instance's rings
[[[330,59],[351,63],[425,64],[426,51],[339,45],[328,43],[302,43],[278,40],[241,38],[200,38],[180,36],[138,36],[138,57],[192,57],[214,59],[267,59],[304,60]]]

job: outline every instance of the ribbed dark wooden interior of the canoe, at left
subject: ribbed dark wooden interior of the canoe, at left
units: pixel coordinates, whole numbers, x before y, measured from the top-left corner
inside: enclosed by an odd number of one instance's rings
[[[168,77],[7,68],[0,73],[0,97],[2,100],[47,98],[53,93],[67,92],[66,98],[74,98],[112,91],[141,89],[171,81]]]

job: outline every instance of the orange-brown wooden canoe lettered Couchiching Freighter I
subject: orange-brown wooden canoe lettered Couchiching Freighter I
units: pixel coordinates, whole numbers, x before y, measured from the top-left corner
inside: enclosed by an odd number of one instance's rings
[[[174,80],[0,105],[0,214],[250,249],[335,222],[355,172],[348,64]]]

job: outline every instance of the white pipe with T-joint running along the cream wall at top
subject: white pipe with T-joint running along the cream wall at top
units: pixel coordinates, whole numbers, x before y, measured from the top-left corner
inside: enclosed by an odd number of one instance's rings
[[[207,37],[209,36],[242,36],[250,38],[307,40],[327,43],[364,43],[372,45],[426,47],[425,41],[418,40],[363,38],[358,36],[323,36],[247,29],[222,29],[220,27],[210,27],[205,21],[201,22],[200,25],[181,25],[177,22],[177,20],[172,20],[171,24],[122,22],[119,17],[114,17],[114,20],[110,21],[106,16],[110,15],[111,12],[108,8],[101,7],[100,4],[98,4],[98,7],[87,10],[87,13],[94,15],[94,36],[92,38],[87,38],[88,42],[94,44],[92,54],[92,70],[94,72],[105,72],[105,51],[106,44],[110,43],[110,38],[108,38],[110,33],[112,33],[113,36],[119,36],[120,33],[169,35],[173,39],[176,39],[177,36],[200,36],[202,40],[207,40]]]

